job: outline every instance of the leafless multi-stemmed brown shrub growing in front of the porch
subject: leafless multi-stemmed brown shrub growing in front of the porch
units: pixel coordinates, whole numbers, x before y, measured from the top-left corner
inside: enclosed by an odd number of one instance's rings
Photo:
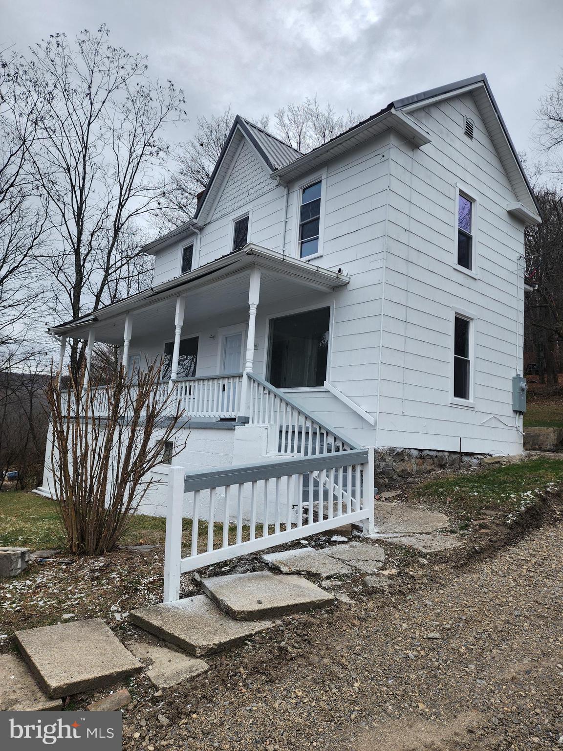
[[[132,382],[122,367],[102,390],[70,373],[68,391],[52,379],[52,493],[71,553],[100,555],[115,547],[131,514],[152,486],[149,472],[164,444],[179,431],[182,412],[165,415],[170,397],[158,388],[161,365],[153,363]],[[100,404],[104,403],[104,417]],[[185,442],[176,446],[182,451]]]

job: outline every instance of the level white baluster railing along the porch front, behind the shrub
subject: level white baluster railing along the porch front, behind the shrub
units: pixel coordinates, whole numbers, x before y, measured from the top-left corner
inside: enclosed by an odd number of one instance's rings
[[[134,386],[131,389],[134,391]],[[240,412],[242,373],[228,375],[196,376],[158,384],[157,398],[167,400],[166,414],[174,414],[176,407],[184,411],[186,417],[194,418],[236,418]],[[169,397],[170,394],[170,397]],[[134,396],[134,394],[132,394]],[[92,394],[92,407],[97,417],[107,415],[107,390],[104,386]]]

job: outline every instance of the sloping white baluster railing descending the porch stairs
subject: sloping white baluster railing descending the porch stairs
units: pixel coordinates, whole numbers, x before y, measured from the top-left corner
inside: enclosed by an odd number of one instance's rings
[[[250,424],[274,426],[277,454],[307,457],[359,448],[254,373],[248,373],[248,383]]]

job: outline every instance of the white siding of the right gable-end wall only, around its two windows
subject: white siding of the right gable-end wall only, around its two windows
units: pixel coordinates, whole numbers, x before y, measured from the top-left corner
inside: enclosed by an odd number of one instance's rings
[[[517,453],[512,376],[521,372],[523,228],[471,95],[411,113],[432,143],[393,137],[378,445]],[[474,139],[463,133],[473,119]],[[456,268],[456,183],[478,198],[477,279]],[[474,408],[450,404],[453,310],[474,315]]]

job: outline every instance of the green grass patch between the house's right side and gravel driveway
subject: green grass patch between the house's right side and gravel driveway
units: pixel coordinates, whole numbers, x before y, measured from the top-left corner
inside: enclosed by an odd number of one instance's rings
[[[448,475],[417,485],[410,497],[435,499],[474,515],[483,508],[510,513],[528,505],[550,483],[563,487],[563,455],[561,459],[539,457]]]

